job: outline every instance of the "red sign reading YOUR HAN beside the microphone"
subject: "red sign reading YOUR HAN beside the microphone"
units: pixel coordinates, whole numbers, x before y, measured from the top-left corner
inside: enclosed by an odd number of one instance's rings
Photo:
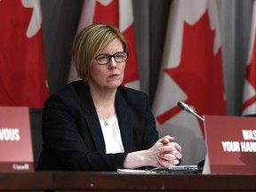
[[[255,117],[204,116],[204,129],[211,173],[256,173]]]

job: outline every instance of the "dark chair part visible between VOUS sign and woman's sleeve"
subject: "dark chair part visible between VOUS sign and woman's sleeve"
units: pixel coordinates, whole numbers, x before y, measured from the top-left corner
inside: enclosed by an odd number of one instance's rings
[[[29,108],[35,170],[36,170],[40,153],[42,151],[42,144],[43,144],[43,140],[41,136],[42,113],[43,113],[42,108]]]

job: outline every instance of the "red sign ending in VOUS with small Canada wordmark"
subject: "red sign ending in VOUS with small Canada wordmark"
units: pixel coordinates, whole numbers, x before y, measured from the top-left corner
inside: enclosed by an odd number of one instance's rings
[[[34,171],[27,107],[0,106],[0,151],[0,172]]]

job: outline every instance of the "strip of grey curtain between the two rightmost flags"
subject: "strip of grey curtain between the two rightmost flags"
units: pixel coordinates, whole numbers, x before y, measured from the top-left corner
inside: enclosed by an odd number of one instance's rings
[[[218,0],[228,115],[241,116],[252,21],[251,0]]]

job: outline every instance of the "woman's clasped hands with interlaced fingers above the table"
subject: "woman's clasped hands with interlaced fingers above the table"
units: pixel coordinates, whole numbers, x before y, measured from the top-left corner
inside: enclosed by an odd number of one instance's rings
[[[151,164],[158,168],[171,168],[175,164],[180,163],[181,147],[175,138],[169,135],[156,141],[152,148],[148,149]]]

